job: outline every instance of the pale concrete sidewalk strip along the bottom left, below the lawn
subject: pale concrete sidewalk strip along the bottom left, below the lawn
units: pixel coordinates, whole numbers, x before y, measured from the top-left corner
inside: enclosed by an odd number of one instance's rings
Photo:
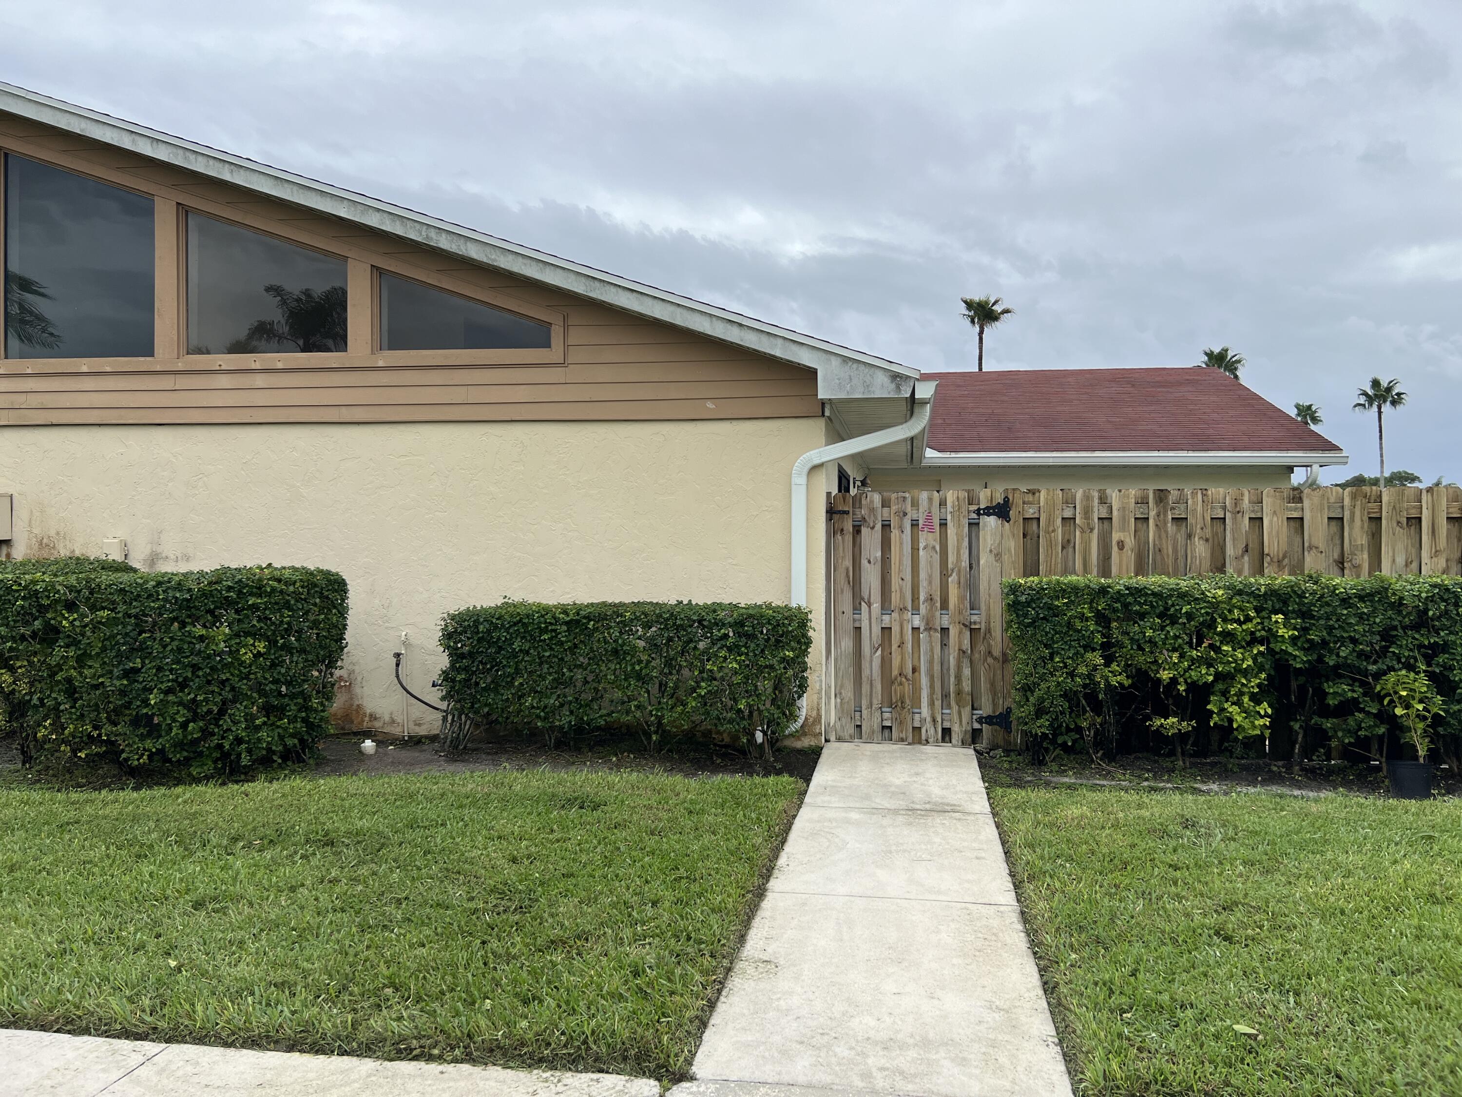
[[[659,1097],[613,1074],[379,1062],[0,1028],[0,1097]]]

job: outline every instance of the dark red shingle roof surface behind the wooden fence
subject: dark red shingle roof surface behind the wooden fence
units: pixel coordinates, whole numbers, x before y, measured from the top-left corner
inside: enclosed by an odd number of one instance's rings
[[[928,448],[1009,452],[1335,452],[1213,369],[925,373],[937,380]]]

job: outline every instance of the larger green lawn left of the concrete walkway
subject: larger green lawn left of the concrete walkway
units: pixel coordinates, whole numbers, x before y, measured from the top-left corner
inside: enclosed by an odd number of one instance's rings
[[[0,1027],[680,1078],[801,791],[0,788]]]

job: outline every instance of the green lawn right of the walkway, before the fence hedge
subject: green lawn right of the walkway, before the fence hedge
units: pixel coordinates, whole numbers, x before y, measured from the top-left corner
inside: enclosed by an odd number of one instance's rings
[[[1079,1093],[1462,1093],[1462,803],[990,799]]]

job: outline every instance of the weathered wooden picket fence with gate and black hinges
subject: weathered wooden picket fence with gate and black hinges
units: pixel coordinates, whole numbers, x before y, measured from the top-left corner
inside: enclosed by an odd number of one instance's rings
[[[1462,573],[1456,487],[867,491],[827,512],[832,740],[1013,744],[1001,579]]]

